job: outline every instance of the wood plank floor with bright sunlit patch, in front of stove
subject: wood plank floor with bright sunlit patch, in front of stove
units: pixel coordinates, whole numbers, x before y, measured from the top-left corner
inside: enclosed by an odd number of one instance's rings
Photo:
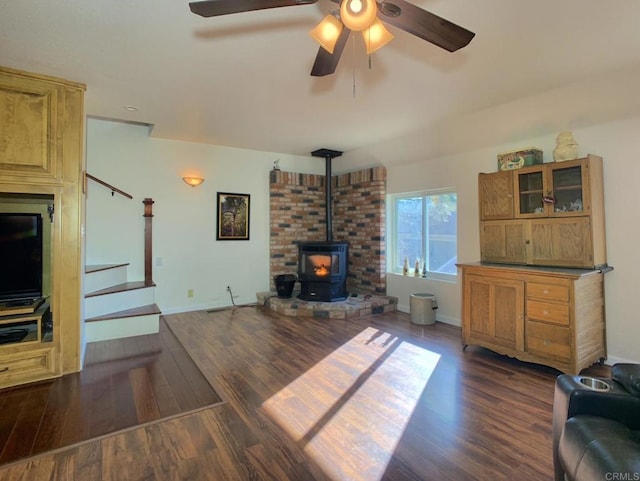
[[[456,327],[257,307],[166,322],[225,402],[5,465],[0,481],[552,479],[559,373],[463,352]]]

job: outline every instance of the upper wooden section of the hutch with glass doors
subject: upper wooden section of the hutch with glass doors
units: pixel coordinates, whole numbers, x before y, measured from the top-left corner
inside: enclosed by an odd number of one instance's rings
[[[478,192],[482,262],[606,265],[601,157],[479,174]]]

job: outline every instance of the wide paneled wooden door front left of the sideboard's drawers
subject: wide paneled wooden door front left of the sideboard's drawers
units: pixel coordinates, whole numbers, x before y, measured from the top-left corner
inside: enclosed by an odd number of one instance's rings
[[[522,351],[524,282],[470,274],[463,289],[463,344]]]

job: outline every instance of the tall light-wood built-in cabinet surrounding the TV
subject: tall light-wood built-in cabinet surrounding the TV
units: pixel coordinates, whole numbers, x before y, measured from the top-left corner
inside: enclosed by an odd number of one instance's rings
[[[81,368],[84,91],[0,67],[0,212],[44,209],[42,296],[51,321],[46,340],[0,344],[0,387]],[[0,315],[0,326],[12,322]]]

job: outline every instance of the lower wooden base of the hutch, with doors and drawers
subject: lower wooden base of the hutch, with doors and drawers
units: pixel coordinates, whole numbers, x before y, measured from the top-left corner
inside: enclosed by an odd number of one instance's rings
[[[462,343],[578,374],[606,358],[602,270],[458,264]]]

